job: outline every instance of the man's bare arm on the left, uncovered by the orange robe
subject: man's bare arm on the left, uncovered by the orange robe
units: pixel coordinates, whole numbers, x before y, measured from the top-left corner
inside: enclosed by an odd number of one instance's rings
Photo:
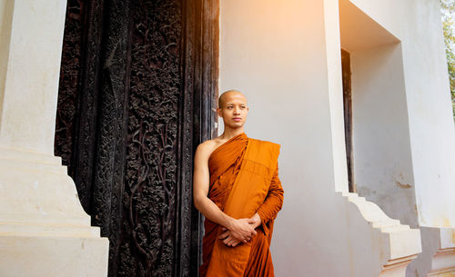
[[[193,198],[197,210],[207,219],[226,227],[240,242],[247,242],[256,231],[250,224],[250,219],[234,219],[223,213],[208,195],[210,175],[208,171],[208,156],[211,147],[207,143],[197,146],[195,154],[195,170],[193,176]]]

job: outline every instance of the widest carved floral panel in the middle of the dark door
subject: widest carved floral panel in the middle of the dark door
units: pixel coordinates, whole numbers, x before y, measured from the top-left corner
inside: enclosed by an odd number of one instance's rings
[[[133,5],[119,276],[172,276],[176,255],[180,1]]]

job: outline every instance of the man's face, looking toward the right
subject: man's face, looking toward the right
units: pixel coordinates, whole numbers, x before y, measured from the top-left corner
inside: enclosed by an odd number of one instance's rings
[[[223,118],[225,125],[235,129],[245,124],[248,110],[247,98],[243,94],[229,92],[223,95],[217,114]]]

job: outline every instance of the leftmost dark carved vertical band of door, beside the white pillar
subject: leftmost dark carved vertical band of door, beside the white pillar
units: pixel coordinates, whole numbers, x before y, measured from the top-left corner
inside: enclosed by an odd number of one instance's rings
[[[69,0],[60,72],[55,153],[91,213],[104,0]]]

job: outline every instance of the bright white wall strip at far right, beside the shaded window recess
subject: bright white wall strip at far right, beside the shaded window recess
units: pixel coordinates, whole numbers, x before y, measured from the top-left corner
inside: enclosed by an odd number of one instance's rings
[[[438,0],[352,0],[401,41],[421,226],[455,224],[455,132]]]

